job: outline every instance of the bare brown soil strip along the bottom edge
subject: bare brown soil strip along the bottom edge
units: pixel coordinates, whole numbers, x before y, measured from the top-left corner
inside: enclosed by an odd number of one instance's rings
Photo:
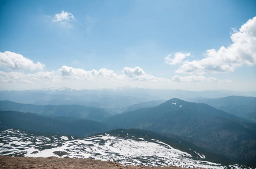
[[[146,167],[146,166],[123,166],[116,162],[99,161],[95,159],[70,159],[57,157],[10,157],[0,156],[0,168],[172,168],[180,169],[181,167]]]

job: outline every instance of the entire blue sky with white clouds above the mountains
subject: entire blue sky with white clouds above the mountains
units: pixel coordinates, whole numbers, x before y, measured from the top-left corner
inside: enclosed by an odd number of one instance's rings
[[[256,91],[256,1],[0,0],[0,90]]]

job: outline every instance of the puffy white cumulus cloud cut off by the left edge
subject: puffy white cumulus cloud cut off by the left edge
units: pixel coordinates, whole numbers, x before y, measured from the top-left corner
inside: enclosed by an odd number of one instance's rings
[[[23,57],[14,52],[0,52],[0,67],[10,70],[42,70],[45,68],[44,64],[40,62],[33,63],[32,60]]]

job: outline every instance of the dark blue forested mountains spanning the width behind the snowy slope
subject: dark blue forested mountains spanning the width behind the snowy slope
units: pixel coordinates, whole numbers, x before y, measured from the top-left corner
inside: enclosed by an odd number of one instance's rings
[[[228,97],[227,100],[232,98]],[[238,100],[242,98],[244,97]],[[130,105],[118,109],[124,113],[115,115],[109,109],[84,105],[39,106],[1,101],[1,110],[12,109],[20,112],[1,111],[0,129],[3,131],[19,128],[26,131],[85,137],[117,128],[137,128],[143,130],[136,131],[137,134],[148,134],[174,144],[188,146],[207,154],[206,157],[211,157],[211,160],[222,158],[225,161],[256,166],[255,123],[204,103],[191,103],[177,98],[162,104],[160,102],[161,100]],[[251,105],[254,105],[253,101]],[[82,108],[88,110],[87,116],[82,116]],[[21,112],[32,110],[35,110],[34,113]],[[42,114],[44,116],[41,116]]]

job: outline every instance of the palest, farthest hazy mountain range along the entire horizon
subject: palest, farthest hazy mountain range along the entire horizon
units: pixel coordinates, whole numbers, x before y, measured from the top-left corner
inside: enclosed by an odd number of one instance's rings
[[[0,100],[35,105],[78,104],[101,108],[125,108],[152,100],[179,98],[191,100],[196,97],[219,98],[231,95],[256,97],[256,92],[227,90],[185,91],[153,90],[147,88],[122,87],[116,89],[74,90],[70,88],[47,88],[45,90],[0,91]]]

